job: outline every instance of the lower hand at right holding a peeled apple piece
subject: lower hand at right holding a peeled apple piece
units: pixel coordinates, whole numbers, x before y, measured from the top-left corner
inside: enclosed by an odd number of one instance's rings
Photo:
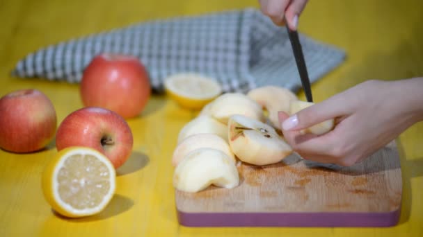
[[[423,78],[362,82],[289,117],[280,113],[282,132],[304,159],[352,166],[423,120]],[[325,134],[301,130],[336,118]]]

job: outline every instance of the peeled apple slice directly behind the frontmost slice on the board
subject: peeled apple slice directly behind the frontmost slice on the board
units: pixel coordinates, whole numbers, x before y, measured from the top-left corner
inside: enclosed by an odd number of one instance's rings
[[[198,148],[214,148],[223,151],[234,163],[236,162],[235,155],[230,150],[228,141],[212,133],[193,134],[175,148],[172,157],[173,166],[177,166],[180,161],[191,151]]]

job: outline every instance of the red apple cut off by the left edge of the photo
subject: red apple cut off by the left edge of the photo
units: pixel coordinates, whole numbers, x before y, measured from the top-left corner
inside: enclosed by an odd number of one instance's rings
[[[22,89],[0,98],[0,148],[33,152],[45,148],[56,132],[56,110],[37,89]]]

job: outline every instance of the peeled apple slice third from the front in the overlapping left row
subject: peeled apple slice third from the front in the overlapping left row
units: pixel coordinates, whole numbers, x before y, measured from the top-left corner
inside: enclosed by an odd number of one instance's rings
[[[217,134],[219,137],[225,139],[225,141],[228,141],[228,126],[217,121],[212,116],[202,115],[184,125],[184,128],[182,128],[177,137],[177,143],[179,145],[186,137],[202,133]]]

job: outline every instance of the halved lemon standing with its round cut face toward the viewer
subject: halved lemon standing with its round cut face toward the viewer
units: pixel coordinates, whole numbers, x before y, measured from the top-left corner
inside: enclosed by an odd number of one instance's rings
[[[115,168],[92,148],[59,151],[42,173],[42,191],[54,211],[77,218],[102,211],[115,193]]]

